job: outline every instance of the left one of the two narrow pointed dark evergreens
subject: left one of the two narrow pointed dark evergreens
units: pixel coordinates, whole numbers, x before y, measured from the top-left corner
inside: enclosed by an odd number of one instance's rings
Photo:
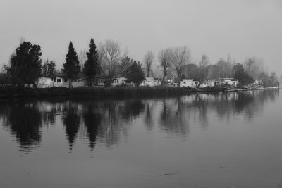
[[[73,43],[70,42],[68,46],[68,54],[66,54],[66,63],[63,63],[63,73],[66,74],[69,80],[69,88],[71,88],[71,82],[80,72],[80,65],[78,61],[78,54],[73,48]]]

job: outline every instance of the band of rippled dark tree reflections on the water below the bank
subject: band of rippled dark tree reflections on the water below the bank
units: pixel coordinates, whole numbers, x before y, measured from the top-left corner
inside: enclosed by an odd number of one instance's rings
[[[85,138],[93,151],[97,143],[108,147],[118,144],[121,136],[128,137],[130,127],[139,119],[140,126],[149,131],[157,128],[183,137],[195,123],[202,126],[202,130],[207,129],[214,115],[227,122],[238,115],[252,121],[256,115],[262,115],[264,104],[276,101],[277,97],[278,91],[273,90],[124,101],[3,101],[0,120],[4,129],[16,138],[23,153],[40,146],[43,127],[61,126],[56,118],[63,123],[70,149],[78,138]]]

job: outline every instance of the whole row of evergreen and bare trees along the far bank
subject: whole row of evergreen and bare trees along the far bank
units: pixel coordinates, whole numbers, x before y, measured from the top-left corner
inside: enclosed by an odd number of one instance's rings
[[[73,43],[70,42],[63,68],[56,70],[54,61],[49,59],[42,61],[39,45],[23,41],[11,54],[8,64],[4,65],[6,75],[1,74],[0,84],[20,86],[35,84],[39,77],[54,77],[58,72],[68,77],[70,88],[71,82],[78,75],[87,78],[87,86],[97,84],[98,77],[103,78],[105,87],[109,87],[115,77],[121,76],[139,86],[145,75],[161,77],[161,84],[171,78],[178,82],[178,87],[183,78],[196,79],[197,87],[208,79],[223,77],[238,79],[241,85],[253,84],[257,80],[257,84],[271,87],[276,86],[278,82],[276,73],[272,72],[269,75],[264,68],[263,60],[259,58],[245,58],[243,63],[235,63],[235,60],[231,61],[231,57],[228,56],[226,60],[221,58],[217,63],[212,64],[206,54],[202,55],[199,61],[192,61],[187,46],[176,46],[161,49],[157,60],[152,51],[147,51],[140,63],[128,57],[127,51],[121,48],[121,44],[112,39],[101,42],[99,47],[93,39],[90,39],[88,47],[88,51],[80,51],[80,54],[77,54]],[[159,74],[154,73],[156,67]]]

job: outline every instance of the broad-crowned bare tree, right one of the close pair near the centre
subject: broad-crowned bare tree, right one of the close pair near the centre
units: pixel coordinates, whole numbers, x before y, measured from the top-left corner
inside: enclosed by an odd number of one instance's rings
[[[173,70],[176,71],[177,84],[180,87],[180,77],[183,65],[188,64],[190,61],[190,49],[187,46],[178,46],[170,49],[171,51],[171,65]]]

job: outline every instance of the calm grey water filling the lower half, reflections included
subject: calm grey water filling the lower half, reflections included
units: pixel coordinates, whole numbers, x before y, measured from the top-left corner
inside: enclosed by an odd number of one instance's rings
[[[275,91],[1,101],[0,187],[282,187]]]

